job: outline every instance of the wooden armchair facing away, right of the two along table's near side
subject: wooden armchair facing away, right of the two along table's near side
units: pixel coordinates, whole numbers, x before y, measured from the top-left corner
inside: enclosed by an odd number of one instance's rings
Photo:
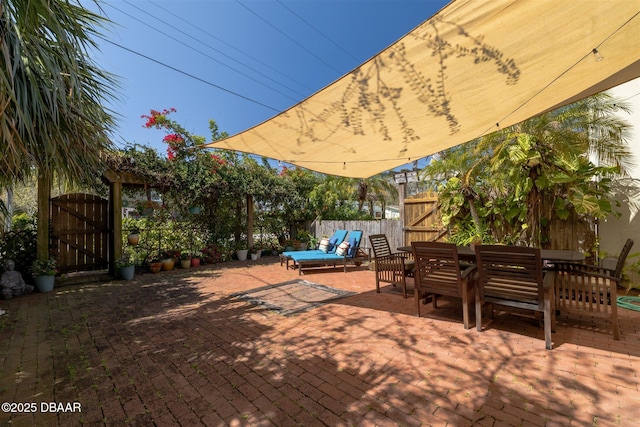
[[[476,327],[482,331],[485,303],[532,310],[544,314],[544,341],[551,350],[555,330],[553,308],[554,272],[544,274],[540,249],[522,246],[478,245],[476,286]],[[493,308],[491,308],[493,316]]]

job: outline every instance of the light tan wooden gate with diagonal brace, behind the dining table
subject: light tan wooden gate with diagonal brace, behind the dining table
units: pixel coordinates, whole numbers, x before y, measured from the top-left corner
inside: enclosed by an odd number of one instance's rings
[[[440,221],[438,194],[426,192],[404,199],[404,244],[442,241],[447,228]]]

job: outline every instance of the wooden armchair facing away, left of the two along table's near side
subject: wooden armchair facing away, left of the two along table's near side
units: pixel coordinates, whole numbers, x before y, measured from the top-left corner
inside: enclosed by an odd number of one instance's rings
[[[461,269],[456,245],[442,242],[412,242],[415,261],[414,296],[420,317],[420,302],[429,295],[433,308],[438,296],[462,298],[462,323],[469,329],[469,306],[474,295],[473,272],[475,265]]]

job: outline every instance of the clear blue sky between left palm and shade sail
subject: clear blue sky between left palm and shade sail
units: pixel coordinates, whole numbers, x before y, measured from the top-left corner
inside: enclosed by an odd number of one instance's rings
[[[83,2],[91,10],[95,5]],[[150,109],[209,140],[255,126],[356,68],[444,0],[106,0],[114,22],[94,60],[120,78],[114,143],[164,152]],[[170,68],[171,67],[171,68]]]

